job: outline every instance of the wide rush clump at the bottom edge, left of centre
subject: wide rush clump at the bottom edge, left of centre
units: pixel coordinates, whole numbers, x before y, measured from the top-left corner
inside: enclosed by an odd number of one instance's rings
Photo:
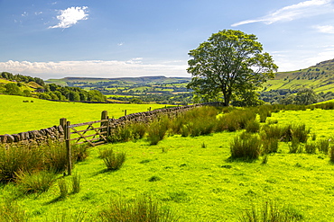
[[[149,197],[140,197],[134,201],[125,199],[113,200],[108,209],[99,213],[102,221],[135,221],[135,222],[172,222],[179,221],[170,209],[162,208],[160,204]]]

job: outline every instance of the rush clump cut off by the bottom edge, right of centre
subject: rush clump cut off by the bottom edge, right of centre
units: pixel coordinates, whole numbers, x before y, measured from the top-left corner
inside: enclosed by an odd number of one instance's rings
[[[283,208],[273,201],[264,201],[262,208],[252,205],[239,219],[241,222],[293,222],[302,220],[300,212],[292,208]]]

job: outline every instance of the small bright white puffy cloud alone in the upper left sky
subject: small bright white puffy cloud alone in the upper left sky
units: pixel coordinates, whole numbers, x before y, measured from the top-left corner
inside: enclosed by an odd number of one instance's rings
[[[80,20],[88,20],[88,7],[70,7],[65,10],[60,10],[60,15],[57,16],[60,21],[57,25],[50,26],[49,29],[55,28],[70,28]]]

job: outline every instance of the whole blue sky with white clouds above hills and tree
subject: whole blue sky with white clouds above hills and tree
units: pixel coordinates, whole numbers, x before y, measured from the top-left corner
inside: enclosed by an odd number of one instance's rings
[[[0,0],[0,72],[189,76],[212,33],[253,33],[279,71],[334,58],[334,0]]]

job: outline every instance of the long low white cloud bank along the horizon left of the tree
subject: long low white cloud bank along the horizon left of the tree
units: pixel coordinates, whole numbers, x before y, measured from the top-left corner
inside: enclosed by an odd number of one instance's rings
[[[0,62],[0,71],[14,74],[39,76],[43,79],[65,76],[90,77],[131,77],[148,75],[190,76],[187,74],[187,62],[144,64],[143,58],[128,61],[60,61],[60,62]]]

